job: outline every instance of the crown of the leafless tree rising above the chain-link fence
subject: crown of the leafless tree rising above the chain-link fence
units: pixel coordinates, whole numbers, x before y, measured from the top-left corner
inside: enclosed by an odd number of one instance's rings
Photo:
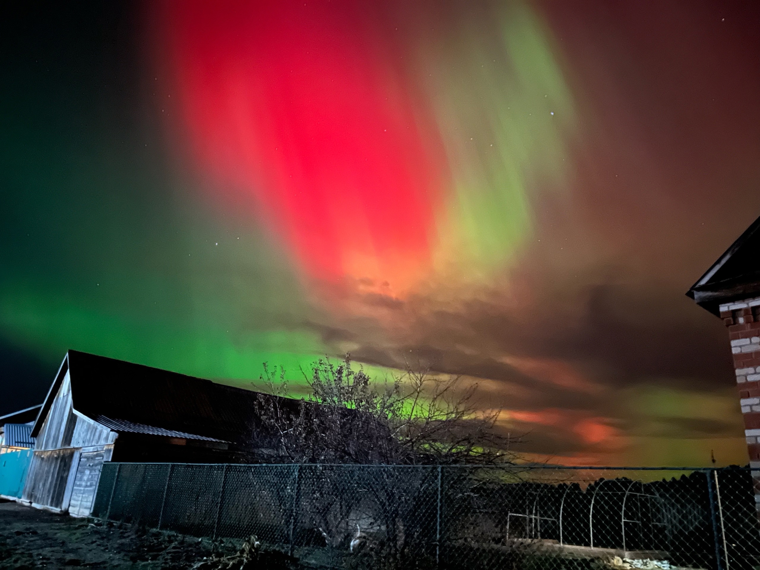
[[[510,436],[496,429],[499,410],[477,410],[477,385],[407,368],[392,382],[373,383],[350,356],[319,359],[306,376],[310,394],[288,398],[283,369],[264,365],[255,415],[274,449],[293,463],[504,464],[515,460]],[[260,438],[259,438],[260,439]],[[252,434],[252,442],[258,441]],[[514,440],[512,440],[514,442]],[[252,445],[261,450],[262,445]],[[265,458],[259,454],[258,461]]]

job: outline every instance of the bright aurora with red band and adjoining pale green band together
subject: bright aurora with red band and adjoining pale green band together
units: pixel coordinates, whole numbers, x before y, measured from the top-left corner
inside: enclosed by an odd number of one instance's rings
[[[526,178],[562,170],[572,106],[540,22],[521,5],[464,23],[436,8],[166,6],[162,51],[210,192],[258,207],[312,277],[397,294],[436,265],[498,267],[528,230]]]

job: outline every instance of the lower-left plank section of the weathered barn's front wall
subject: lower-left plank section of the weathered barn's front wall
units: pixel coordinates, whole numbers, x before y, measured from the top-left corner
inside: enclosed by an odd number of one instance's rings
[[[21,498],[36,505],[65,510],[69,472],[78,455],[79,450],[74,448],[34,451]]]

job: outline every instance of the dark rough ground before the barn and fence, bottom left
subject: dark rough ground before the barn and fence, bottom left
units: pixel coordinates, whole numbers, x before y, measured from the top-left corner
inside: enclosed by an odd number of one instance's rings
[[[236,541],[199,540],[0,502],[0,568],[190,568]]]

